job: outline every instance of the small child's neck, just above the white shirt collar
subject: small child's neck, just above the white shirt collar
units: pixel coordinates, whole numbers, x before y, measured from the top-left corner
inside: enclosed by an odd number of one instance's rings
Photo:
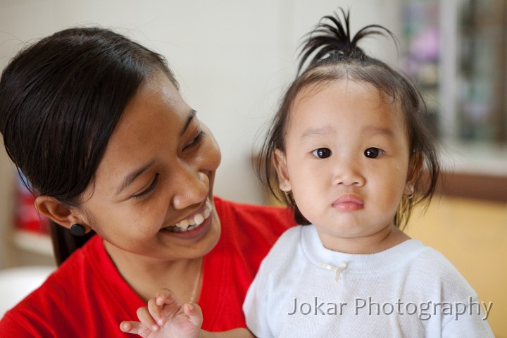
[[[353,254],[377,253],[390,249],[410,239],[407,234],[394,225],[386,227],[382,231],[368,237],[342,237],[333,238],[332,240],[327,239],[327,241],[323,239],[320,233],[319,237],[326,249]]]

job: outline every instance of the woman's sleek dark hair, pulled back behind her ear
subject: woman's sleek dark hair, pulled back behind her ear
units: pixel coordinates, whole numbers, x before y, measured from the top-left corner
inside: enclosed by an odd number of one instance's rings
[[[177,86],[163,56],[99,27],[45,37],[16,55],[0,80],[0,132],[32,194],[80,206],[127,102],[156,71]],[[51,222],[58,265],[85,237]]]

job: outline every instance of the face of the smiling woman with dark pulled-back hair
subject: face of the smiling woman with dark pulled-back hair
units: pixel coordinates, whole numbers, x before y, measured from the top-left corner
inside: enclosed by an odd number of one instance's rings
[[[166,262],[200,258],[220,237],[215,211],[206,221],[200,219],[213,199],[219,164],[220,151],[211,133],[168,77],[155,73],[125,107],[96,169],[94,185],[84,191],[79,223],[101,234],[122,275],[143,269],[153,258]],[[176,231],[177,223],[190,219],[200,220],[201,226]],[[132,260],[132,253],[148,259]],[[170,280],[171,275],[168,270],[160,278]],[[138,277],[132,274],[130,284],[148,299],[152,293],[146,293],[149,289]],[[189,286],[172,289],[180,289],[182,299],[189,299]]]

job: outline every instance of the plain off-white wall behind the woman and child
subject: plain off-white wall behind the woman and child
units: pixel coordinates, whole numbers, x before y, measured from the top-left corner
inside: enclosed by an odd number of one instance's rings
[[[0,68],[23,44],[65,27],[101,25],[123,32],[168,58],[184,98],[218,140],[223,163],[215,193],[262,203],[251,170],[252,144],[294,75],[302,35],[337,6],[351,8],[354,32],[378,23],[399,35],[398,4],[399,0],[0,0]],[[394,48],[389,39],[365,46],[390,63],[396,63]],[[11,166],[5,158],[0,156],[0,237],[11,217],[6,212]]]

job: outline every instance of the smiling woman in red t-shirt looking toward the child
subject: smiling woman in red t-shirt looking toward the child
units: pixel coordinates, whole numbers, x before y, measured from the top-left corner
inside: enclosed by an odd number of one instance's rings
[[[162,56],[93,27],[8,64],[0,131],[60,266],[6,313],[3,335],[120,337],[162,288],[199,303],[205,330],[245,327],[246,290],[294,221],[213,196],[220,151],[177,88]]]

